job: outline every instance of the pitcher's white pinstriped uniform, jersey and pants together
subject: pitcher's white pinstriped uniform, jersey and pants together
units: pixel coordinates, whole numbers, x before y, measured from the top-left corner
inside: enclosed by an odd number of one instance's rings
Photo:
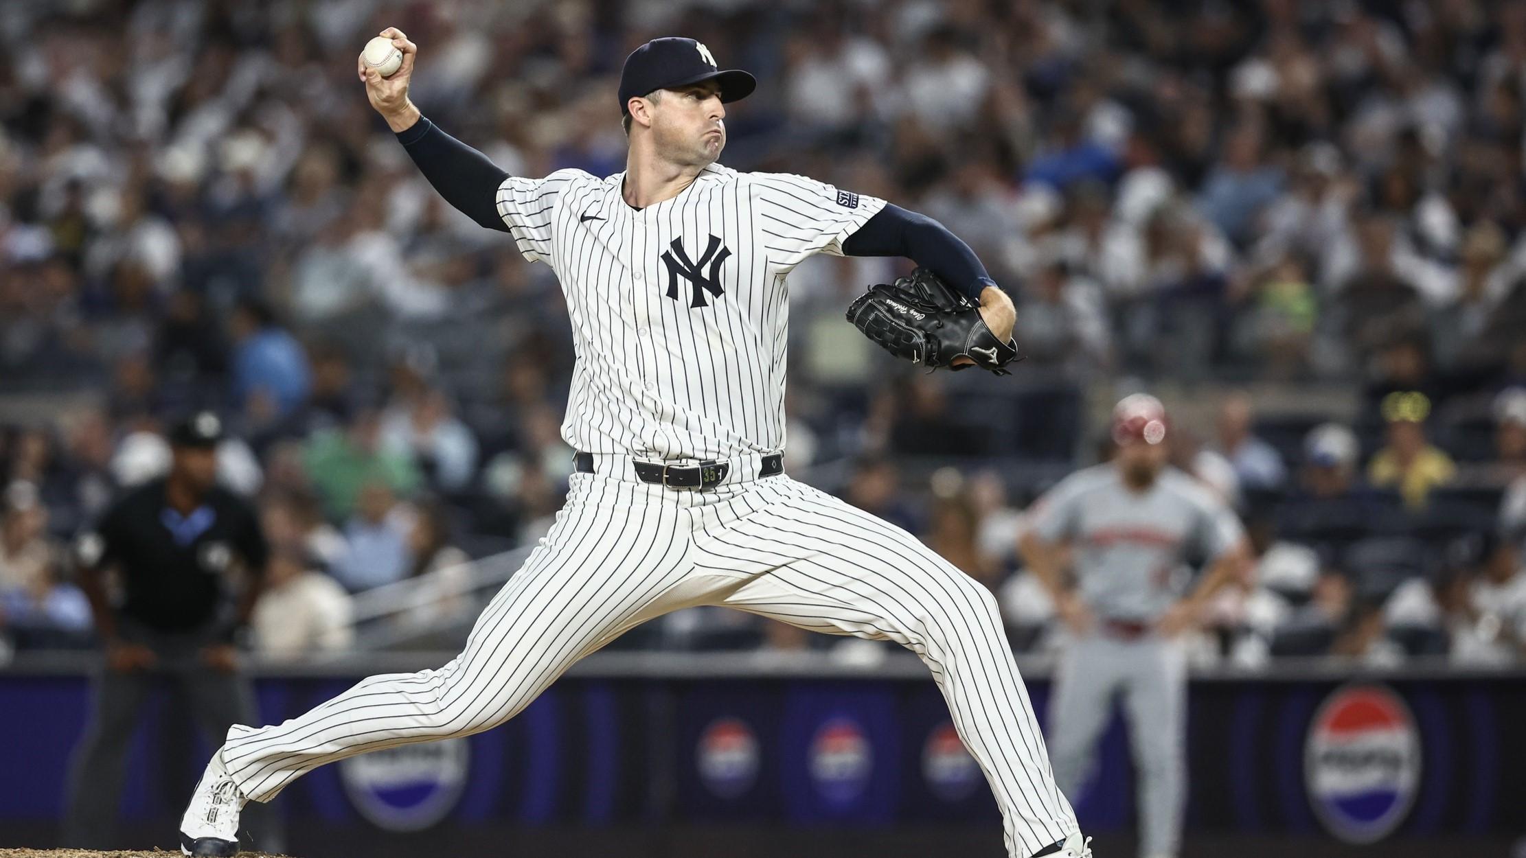
[[[328,762],[487,730],[626,629],[729,605],[914,651],[996,794],[1007,850],[1064,840],[1074,814],[990,594],[903,530],[789,477],[752,479],[784,447],[786,277],[813,253],[839,255],[885,201],[711,165],[636,210],[623,178],[557,171],[497,189],[520,253],[562,282],[577,354],[562,434],[597,472],[572,475],[551,532],[459,657],[362,680],[279,725],[235,727],[227,770],[266,802]],[[732,469],[714,489],[673,491],[636,482],[629,456]]]

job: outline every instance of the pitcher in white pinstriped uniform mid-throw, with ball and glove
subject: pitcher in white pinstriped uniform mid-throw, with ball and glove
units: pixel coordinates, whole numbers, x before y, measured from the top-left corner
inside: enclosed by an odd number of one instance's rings
[[[906,256],[850,319],[929,367],[1004,372],[1012,302],[940,224],[812,178],[720,166],[725,105],[752,91],[688,38],[638,47],[620,79],[626,171],[511,177],[407,98],[417,47],[357,73],[424,177],[555,271],[574,331],[562,434],[566,504],[439,669],[369,677],[270,727],[233,727],[180,826],[232,855],[247,800],[359,753],[468,736],[513,718],[578,658],[691,605],[894,640],[932,671],[1001,806],[1013,858],[1090,855],[980,584],[905,530],[783,474],[790,270],[813,253]],[[945,285],[948,283],[948,285]]]

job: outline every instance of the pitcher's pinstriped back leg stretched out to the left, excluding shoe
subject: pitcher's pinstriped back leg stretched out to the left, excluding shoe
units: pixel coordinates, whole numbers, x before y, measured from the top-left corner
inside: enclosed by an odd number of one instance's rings
[[[362,680],[284,724],[230,730],[221,756],[240,791],[269,802],[319,765],[502,724],[615,631],[676,607],[664,596],[688,571],[685,511],[632,503],[644,486],[578,477],[461,655],[438,671]]]

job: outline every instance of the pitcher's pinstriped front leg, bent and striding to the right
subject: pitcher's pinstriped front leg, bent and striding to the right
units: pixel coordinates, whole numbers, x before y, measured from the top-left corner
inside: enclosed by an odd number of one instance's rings
[[[760,483],[748,506],[696,541],[697,570],[739,573],[719,603],[906,646],[932,669],[990,782],[1007,852],[1029,858],[1076,831],[989,590],[905,530],[803,483]]]

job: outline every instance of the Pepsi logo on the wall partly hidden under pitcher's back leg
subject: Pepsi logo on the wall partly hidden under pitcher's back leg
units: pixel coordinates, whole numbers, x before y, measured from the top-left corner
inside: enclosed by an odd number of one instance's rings
[[[382,748],[339,764],[356,809],[386,831],[421,831],[455,809],[467,785],[465,739]]]

